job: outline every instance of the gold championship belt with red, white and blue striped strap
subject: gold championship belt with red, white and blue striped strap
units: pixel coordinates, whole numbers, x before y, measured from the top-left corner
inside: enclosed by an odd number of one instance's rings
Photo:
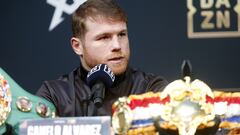
[[[162,92],[119,98],[112,106],[116,134],[239,134],[240,92],[214,91],[186,76]]]

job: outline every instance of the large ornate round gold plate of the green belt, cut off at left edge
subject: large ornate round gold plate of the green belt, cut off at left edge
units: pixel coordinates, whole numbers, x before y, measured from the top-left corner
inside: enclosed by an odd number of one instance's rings
[[[12,96],[7,80],[0,74],[0,126],[6,121],[11,111]]]

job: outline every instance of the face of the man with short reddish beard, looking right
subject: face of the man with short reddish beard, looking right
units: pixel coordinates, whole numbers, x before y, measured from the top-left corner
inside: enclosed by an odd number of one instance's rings
[[[125,72],[130,55],[126,22],[87,19],[86,28],[82,65],[89,70],[97,64],[107,64],[115,75]]]

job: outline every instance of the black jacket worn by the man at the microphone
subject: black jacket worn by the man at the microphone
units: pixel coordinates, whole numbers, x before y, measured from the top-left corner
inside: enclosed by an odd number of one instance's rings
[[[103,106],[97,109],[91,100],[91,89],[86,84],[87,71],[79,67],[58,80],[45,81],[37,95],[52,102],[60,117],[111,116],[112,104],[123,96],[162,91],[167,81],[160,76],[128,68],[116,76],[111,88],[106,89]]]

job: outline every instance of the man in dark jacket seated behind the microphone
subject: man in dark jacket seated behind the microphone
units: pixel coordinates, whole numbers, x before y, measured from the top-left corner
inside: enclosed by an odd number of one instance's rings
[[[160,91],[167,84],[159,76],[128,67],[127,17],[112,0],[88,0],[82,4],[73,14],[72,31],[71,45],[81,66],[58,80],[44,82],[37,92],[56,106],[58,116],[111,115],[112,104],[119,97]],[[108,65],[116,75],[101,108],[94,106],[86,84],[88,71],[97,64]]]

